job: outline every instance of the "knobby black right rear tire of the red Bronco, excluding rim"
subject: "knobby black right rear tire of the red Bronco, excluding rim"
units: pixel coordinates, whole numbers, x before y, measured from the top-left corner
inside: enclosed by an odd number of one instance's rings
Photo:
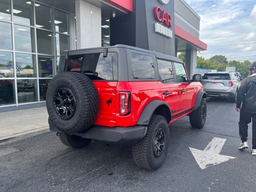
[[[161,156],[156,158],[153,152],[154,137],[160,128],[164,130],[165,146]],[[132,156],[136,165],[148,170],[156,170],[159,168],[168,154],[169,135],[166,119],[160,115],[152,115],[146,135],[142,140],[132,146]]]

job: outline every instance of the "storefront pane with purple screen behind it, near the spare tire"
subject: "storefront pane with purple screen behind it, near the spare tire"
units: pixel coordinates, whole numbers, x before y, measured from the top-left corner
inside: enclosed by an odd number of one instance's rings
[[[53,77],[53,59],[50,56],[38,56],[38,76],[42,78]]]

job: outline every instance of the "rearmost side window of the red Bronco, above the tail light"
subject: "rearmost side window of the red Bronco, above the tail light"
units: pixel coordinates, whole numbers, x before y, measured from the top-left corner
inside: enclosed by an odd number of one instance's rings
[[[134,79],[154,79],[155,69],[151,56],[132,53],[132,77]]]

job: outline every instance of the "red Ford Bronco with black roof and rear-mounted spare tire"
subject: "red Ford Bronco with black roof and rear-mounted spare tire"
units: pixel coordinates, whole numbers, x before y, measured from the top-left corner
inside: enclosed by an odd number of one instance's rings
[[[168,124],[188,115],[204,126],[201,79],[189,80],[176,57],[131,46],[63,52],[46,96],[50,130],[74,148],[132,145],[136,164],[155,170],[168,154]]]

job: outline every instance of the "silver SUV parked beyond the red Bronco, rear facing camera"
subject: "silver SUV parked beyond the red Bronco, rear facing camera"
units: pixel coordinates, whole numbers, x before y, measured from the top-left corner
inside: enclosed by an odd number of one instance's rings
[[[206,73],[202,85],[208,97],[230,98],[231,102],[236,102],[238,77],[235,72]]]

